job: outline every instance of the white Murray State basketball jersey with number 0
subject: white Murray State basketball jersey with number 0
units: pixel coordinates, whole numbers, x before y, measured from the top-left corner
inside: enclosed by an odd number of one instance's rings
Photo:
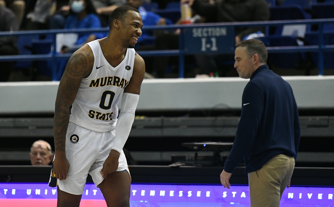
[[[106,132],[116,127],[117,104],[132,77],[135,50],[128,48],[124,60],[114,68],[97,40],[87,45],[92,48],[94,66],[90,76],[81,81],[69,121],[92,131]]]

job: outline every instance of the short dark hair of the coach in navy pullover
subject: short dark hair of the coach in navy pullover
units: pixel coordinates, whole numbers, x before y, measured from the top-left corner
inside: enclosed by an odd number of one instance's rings
[[[257,54],[260,58],[260,62],[267,64],[268,52],[265,44],[260,40],[245,40],[236,44],[235,48],[237,47],[245,47],[248,58],[251,58],[253,55]]]

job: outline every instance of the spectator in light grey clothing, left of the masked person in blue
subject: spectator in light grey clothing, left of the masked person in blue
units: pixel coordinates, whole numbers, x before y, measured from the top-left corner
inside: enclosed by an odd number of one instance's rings
[[[55,13],[55,10],[55,0],[37,0],[34,10],[26,16],[30,21],[27,21],[25,28],[27,30],[48,29],[48,19]]]

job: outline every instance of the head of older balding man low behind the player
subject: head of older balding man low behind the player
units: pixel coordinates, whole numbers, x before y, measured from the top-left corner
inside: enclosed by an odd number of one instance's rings
[[[51,145],[44,140],[35,141],[30,148],[31,165],[49,165],[53,159]]]

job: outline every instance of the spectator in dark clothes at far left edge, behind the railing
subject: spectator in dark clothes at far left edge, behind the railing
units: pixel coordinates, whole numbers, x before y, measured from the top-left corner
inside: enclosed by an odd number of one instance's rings
[[[0,32],[18,30],[15,14],[8,8],[0,5]],[[17,38],[0,37],[0,55],[18,55]],[[7,81],[15,62],[1,62],[0,82]]]

